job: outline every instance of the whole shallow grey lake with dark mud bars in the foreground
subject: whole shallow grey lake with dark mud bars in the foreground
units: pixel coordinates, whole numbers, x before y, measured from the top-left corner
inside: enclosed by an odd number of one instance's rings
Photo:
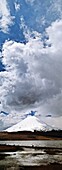
[[[23,166],[62,164],[62,141],[0,141],[0,145],[22,146],[23,150],[0,153],[0,169],[19,170]],[[31,147],[33,146],[33,147]]]

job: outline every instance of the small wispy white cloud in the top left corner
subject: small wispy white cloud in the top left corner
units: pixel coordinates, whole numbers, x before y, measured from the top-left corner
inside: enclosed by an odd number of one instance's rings
[[[7,0],[0,1],[0,30],[4,33],[9,31],[9,26],[13,24],[14,17],[10,14]]]

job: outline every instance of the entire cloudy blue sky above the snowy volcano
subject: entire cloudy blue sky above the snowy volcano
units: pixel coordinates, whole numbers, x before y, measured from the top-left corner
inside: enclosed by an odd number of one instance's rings
[[[0,0],[0,130],[31,111],[62,129],[62,0]]]

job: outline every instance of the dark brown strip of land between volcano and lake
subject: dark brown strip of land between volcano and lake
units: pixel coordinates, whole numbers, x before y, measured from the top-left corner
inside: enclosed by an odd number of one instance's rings
[[[62,131],[0,132],[0,140],[62,140]]]

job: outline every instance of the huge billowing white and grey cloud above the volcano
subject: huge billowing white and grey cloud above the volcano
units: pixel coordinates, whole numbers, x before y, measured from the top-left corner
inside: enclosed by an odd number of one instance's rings
[[[10,113],[12,123],[31,109],[42,116],[62,115],[62,20],[52,23],[46,35],[46,47],[39,36],[26,44],[3,44],[6,71],[0,72],[0,110]]]

